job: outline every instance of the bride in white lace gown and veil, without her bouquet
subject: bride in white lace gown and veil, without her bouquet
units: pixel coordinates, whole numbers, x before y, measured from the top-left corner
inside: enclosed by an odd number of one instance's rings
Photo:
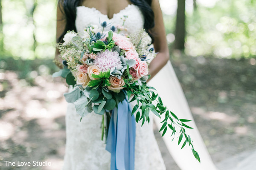
[[[157,88],[165,105],[179,118],[192,120],[183,91],[168,61],[169,51],[158,0],[59,0],[57,42],[63,42],[64,34],[68,30],[82,32],[88,25],[100,27],[100,22],[103,21],[121,28],[124,18],[124,31],[131,34],[144,28],[154,42],[157,57],[149,65],[149,74],[151,78],[154,77],[149,82],[150,85]],[[58,55],[56,49],[56,60]],[[57,65],[61,68],[60,63],[61,61]],[[131,107],[133,106],[131,103]],[[76,114],[74,105],[68,104],[63,170],[110,170],[111,154],[105,150],[104,141],[100,140],[101,118],[101,115],[88,113],[79,122],[80,116]],[[157,125],[160,125],[160,120],[155,120]],[[139,122],[136,125],[135,170],[166,170],[154,137],[152,123],[151,121],[141,126]],[[201,157],[201,164],[194,158],[189,147],[180,150],[176,139],[172,141],[169,137],[171,135],[166,133],[163,139],[169,152],[182,170],[216,170],[196,125],[190,125],[194,129],[188,130],[187,133],[194,141],[195,149]]]

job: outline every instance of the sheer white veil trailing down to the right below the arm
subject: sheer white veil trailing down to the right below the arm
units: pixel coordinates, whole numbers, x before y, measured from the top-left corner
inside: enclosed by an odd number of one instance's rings
[[[183,142],[177,146],[177,137],[175,137],[175,139],[172,141],[172,137],[170,137],[172,130],[167,130],[166,134],[163,136],[163,140],[169,150],[169,153],[172,155],[180,169],[217,170],[195,125],[189,105],[187,104],[186,98],[170,61],[168,61],[168,63],[159,71],[159,73],[157,73],[157,75],[150,80],[148,85],[157,89],[158,94],[163,100],[163,104],[166,105],[170,111],[175,113],[179,119],[192,120],[192,122],[187,122],[187,124],[194,129],[186,129],[186,133],[191,136],[195,150],[200,156],[201,163],[195,159],[189,145],[180,150]],[[157,128],[160,129],[162,125],[160,125],[160,119],[156,118],[154,121],[157,122]]]

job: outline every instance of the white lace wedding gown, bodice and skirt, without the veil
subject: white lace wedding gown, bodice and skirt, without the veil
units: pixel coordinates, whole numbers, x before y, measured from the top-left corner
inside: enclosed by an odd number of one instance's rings
[[[106,21],[113,26],[122,25],[121,17],[128,16],[124,27],[127,33],[143,28],[144,19],[141,11],[135,5],[128,5],[113,18],[102,14],[95,8],[77,7],[76,28],[84,31],[88,25],[98,25]],[[111,27],[106,28],[109,30]],[[133,108],[134,103],[131,103]],[[166,170],[160,150],[153,133],[153,117],[151,122],[141,126],[136,125],[135,170]],[[110,170],[111,154],[105,150],[105,142],[101,140],[102,116],[87,113],[80,122],[73,104],[68,104],[66,115],[66,150],[63,170]]]

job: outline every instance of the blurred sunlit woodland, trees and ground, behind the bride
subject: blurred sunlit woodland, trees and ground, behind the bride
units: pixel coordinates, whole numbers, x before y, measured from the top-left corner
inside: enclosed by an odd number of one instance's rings
[[[256,149],[256,0],[160,5],[170,59],[195,122],[213,161],[228,170],[225,158],[241,153],[241,160]],[[52,62],[56,7],[56,0],[0,0],[3,170],[10,168],[3,160],[48,160],[58,167],[63,159],[67,87],[51,77],[58,71]],[[161,149],[167,170],[178,170]]]

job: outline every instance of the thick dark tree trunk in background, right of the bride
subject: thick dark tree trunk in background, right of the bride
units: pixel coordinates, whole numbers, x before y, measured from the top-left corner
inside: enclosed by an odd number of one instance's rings
[[[175,49],[183,50],[185,48],[185,34],[185,0],[178,0],[175,30]]]

